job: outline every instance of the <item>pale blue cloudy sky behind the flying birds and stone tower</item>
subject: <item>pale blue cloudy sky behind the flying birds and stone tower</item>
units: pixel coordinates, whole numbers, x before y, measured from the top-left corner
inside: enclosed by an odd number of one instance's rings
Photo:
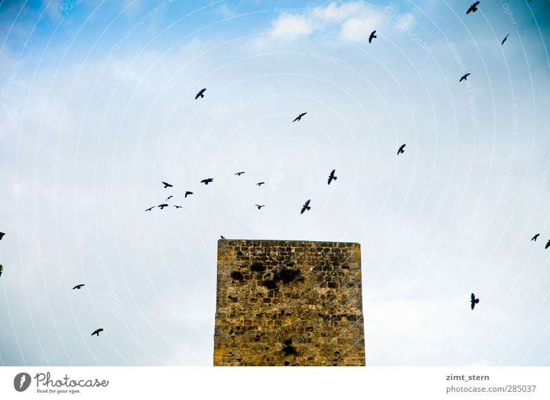
[[[360,243],[367,366],[550,365],[550,2],[297,3],[0,0],[0,365],[212,366],[220,235]]]

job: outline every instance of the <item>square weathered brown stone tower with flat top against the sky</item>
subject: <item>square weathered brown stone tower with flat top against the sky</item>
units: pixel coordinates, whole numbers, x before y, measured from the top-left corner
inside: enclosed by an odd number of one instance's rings
[[[364,366],[358,243],[218,241],[214,366]]]

